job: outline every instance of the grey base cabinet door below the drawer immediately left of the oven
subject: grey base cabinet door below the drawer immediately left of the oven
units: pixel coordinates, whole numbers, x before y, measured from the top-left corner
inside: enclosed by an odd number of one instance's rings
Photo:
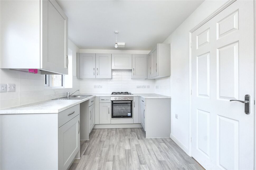
[[[111,123],[111,103],[99,103],[99,124]]]

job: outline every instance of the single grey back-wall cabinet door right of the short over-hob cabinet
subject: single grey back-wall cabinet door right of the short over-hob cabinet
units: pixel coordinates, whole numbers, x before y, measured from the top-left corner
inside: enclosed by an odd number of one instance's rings
[[[147,78],[147,54],[132,54],[131,78]]]

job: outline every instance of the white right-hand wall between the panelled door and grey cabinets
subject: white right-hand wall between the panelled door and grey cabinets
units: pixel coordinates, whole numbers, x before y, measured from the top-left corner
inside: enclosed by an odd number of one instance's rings
[[[157,79],[155,93],[170,93],[171,136],[188,153],[189,148],[189,31],[226,1],[203,2],[163,43],[171,44],[171,76]],[[170,84],[170,88],[166,89]],[[163,86],[163,87],[162,87]],[[161,88],[160,88],[161,87]],[[175,118],[178,114],[178,119]]]

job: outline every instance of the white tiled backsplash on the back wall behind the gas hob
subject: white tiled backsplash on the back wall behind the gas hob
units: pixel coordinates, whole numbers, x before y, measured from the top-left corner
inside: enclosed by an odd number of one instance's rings
[[[131,79],[131,70],[112,70],[112,79],[81,79],[81,93],[154,93],[155,80],[153,79]],[[94,88],[101,85],[102,88]],[[136,88],[136,86],[149,86],[149,88]]]

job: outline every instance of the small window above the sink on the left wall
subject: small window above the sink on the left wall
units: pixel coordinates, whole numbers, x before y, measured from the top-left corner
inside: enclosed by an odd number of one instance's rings
[[[45,88],[63,88],[63,75],[60,74],[45,74],[44,76]]]

